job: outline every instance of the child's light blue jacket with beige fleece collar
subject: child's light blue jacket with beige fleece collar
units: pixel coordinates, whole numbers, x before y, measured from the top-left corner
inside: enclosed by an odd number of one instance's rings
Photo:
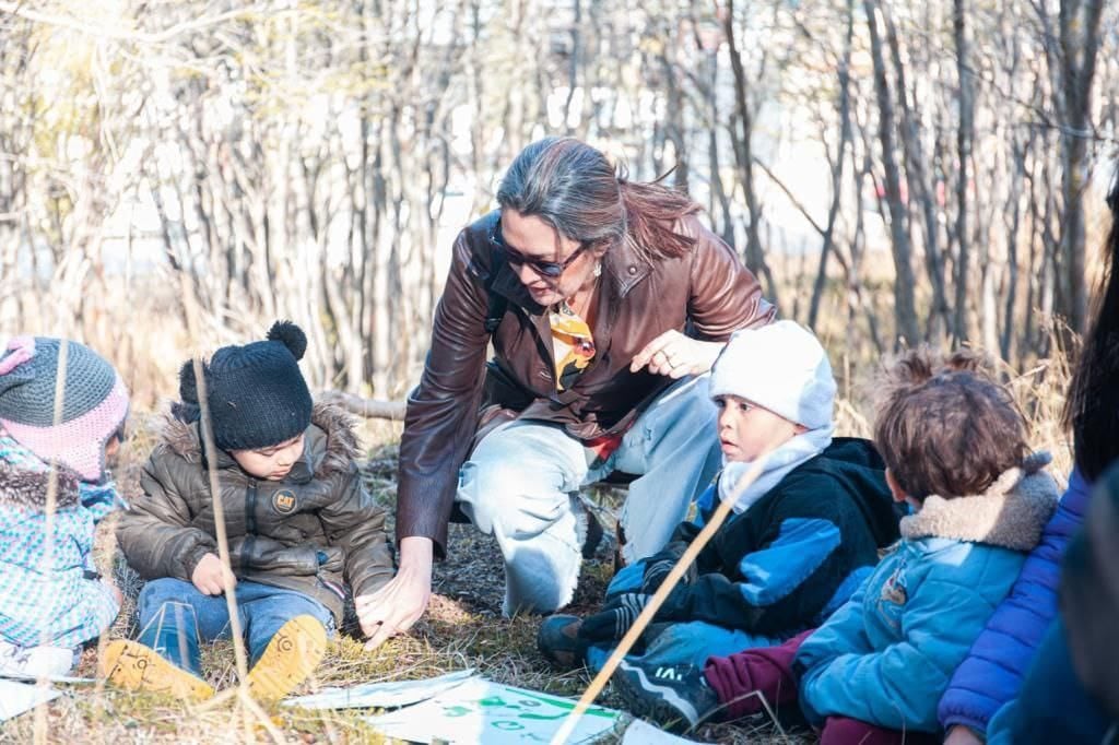
[[[952,671],[1018,576],[1056,503],[1032,461],[984,494],[930,497],[902,520],[902,540],[801,645],[793,661],[801,709],[880,727],[937,732]]]

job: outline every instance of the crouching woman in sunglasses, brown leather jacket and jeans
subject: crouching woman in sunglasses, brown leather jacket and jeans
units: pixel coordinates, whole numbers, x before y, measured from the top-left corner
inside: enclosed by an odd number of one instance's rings
[[[583,142],[528,145],[498,202],[455,241],[408,399],[401,567],[370,598],[383,614],[370,644],[423,612],[455,500],[498,539],[507,614],[570,601],[586,532],[573,492],[613,470],[643,474],[621,517],[626,557],[658,550],[720,461],[715,409],[693,376],[733,331],[773,317],[698,205],[627,180]]]

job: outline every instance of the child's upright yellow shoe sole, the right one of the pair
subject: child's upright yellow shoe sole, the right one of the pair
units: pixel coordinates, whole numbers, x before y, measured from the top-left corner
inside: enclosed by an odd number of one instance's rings
[[[280,626],[248,671],[254,698],[278,701],[307,680],[327,651],[327,630],[311,615],[297,615]]]

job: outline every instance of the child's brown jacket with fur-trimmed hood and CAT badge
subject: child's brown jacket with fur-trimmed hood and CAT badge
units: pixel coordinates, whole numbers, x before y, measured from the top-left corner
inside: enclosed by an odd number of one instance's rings
[[[393,578],[385,510],[361,483],[349,416],[318,404],[305,434],[303,455],[283,481],[253,479],[219,451],[229,562],[238,579],[310,595],[340,623],[348,590],[372,593]],[[140,485],[143,496],[116,525],[124,557],[144,579],[190,582],[199,559],[217,554],[197,424],[168,422]]]

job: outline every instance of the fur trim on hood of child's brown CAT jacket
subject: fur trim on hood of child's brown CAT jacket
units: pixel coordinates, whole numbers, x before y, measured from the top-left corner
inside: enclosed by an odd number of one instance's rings
[[[188,463],[201,462],[203,447],[197,423],[186,424],[168,415],[160,440]],[[307,444],[300,459],[308,480],[344,473],[359,454],[352,417],[338,406],[316,404],[311,409],[311,426],[308,427]],[[234,468],[236,461],[225,451],[218,451],[217,466]],[[295,475],[294,472],[292,475]]]

